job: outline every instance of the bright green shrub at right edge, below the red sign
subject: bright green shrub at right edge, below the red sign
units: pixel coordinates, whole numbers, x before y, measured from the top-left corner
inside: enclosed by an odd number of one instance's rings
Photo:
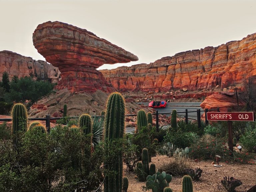
[[[256,146],[256,128],[252,126],[247,127],[239,142],[243,148],[252,152],[253,147]]]

